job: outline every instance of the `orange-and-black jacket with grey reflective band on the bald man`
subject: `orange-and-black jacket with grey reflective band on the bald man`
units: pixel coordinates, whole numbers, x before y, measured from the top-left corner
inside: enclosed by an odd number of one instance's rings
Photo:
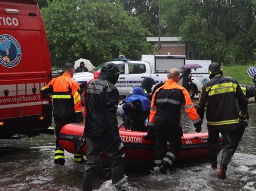
[[[166,121],[173,124],[180,123],[180,108],[184,105],[188,117],[197,123],[200,117],[187,90],[174,80],[167,80],[163,86],[153,94],[150,108],[149,125],[154,121]]]

